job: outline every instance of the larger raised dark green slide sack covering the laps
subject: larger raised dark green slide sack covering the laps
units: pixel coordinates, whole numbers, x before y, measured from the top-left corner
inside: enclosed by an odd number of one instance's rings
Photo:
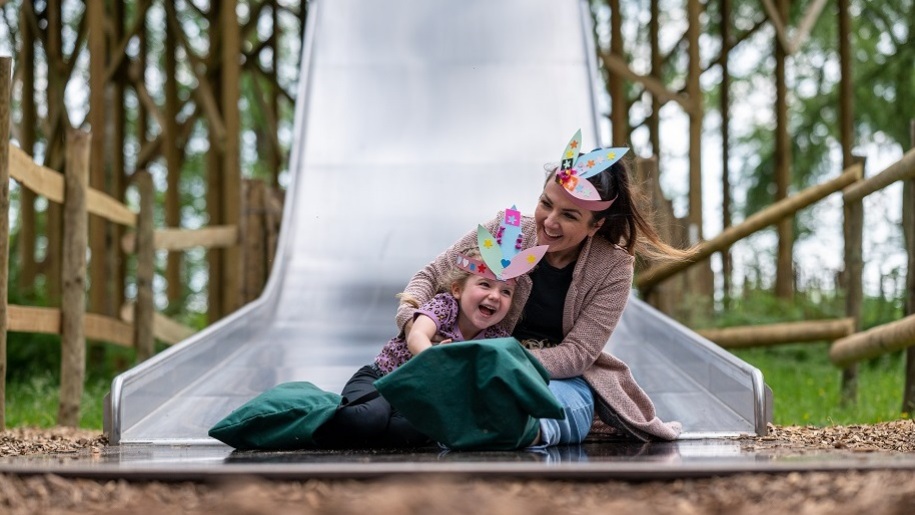
[[[564,418],[549,374],[514,338],[437,345],[375,381],[417,429],[454,450],[527,447]]]

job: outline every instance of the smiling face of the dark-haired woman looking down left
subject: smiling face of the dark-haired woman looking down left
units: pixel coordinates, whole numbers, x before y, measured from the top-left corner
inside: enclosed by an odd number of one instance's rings
[[[550,246],[547,261],[562,267],[577,259],[581,242],[603,225],[603,220],[595,224],[593,219],[591,211],[572,202],[562,185],[552,177],[547,180],[534,211],[537,243]]]

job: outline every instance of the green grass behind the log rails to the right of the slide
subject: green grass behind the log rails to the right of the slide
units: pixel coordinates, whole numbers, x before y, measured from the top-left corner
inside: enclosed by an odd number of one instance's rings
[[[734,354],[759,368],[772,389],[776,425],[873,424],[908,418],[901,413],[905,360],[894,353],[858,366],[855,402],[842,401],[842,372],[827,344],[745,349]]]

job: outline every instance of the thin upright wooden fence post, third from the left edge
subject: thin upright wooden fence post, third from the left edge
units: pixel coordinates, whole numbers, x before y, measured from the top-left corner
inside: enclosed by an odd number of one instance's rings
[[[155,274],[156,249],[154,246],[153,210],[155,191],[152,175],[138,170],[134,177],[140,193],[140,214],[137,216],[137,303],[134,306],[134,345],[137,361],[145,361],[155,352],[153,336],[153,275]]]

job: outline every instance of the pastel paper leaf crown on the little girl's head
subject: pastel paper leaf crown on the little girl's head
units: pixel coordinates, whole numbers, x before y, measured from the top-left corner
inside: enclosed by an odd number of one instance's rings
[[[482,225],[477,227],[477,244],[482,260],[458,254],[455,265],[461,270],[488,279],[507,281],[531,271],[543,259],[549,245],[524,249],[521,212],[515,206],[505,210],[499,232],[493,236]]]

